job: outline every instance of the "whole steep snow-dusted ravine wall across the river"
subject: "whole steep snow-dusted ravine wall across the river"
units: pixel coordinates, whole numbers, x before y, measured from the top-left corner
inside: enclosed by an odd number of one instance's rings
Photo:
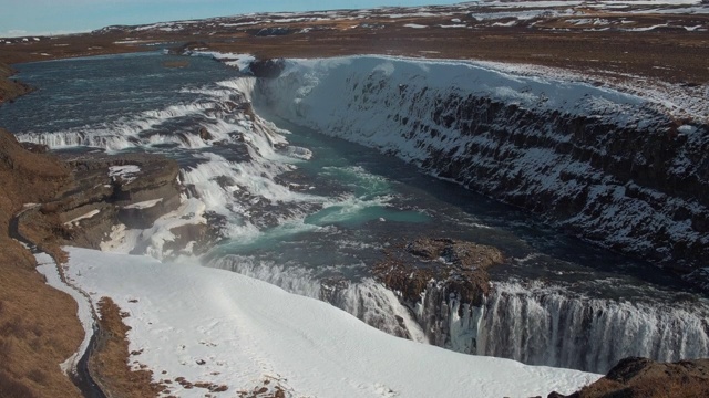
[[[692,276],[709,265],[709,127],[605,87],[470,63],[290,61],[256,101],[569,233]],[[698,271],[699,270],[699,271]],[[703,273],[706,277],[706,273]]]

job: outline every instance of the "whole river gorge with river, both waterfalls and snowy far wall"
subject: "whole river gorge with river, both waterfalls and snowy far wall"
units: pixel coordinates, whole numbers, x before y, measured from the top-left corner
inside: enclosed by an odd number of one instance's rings
[[[466,354],[595,373],[709,356],[706,124],[493,64],[281,60],[255,77],[169,66],[184,60],[18,66],[39,87],[0,109],[18,139],[179,166],[179,205],[150,224],[125,209],[104,250],[246,274]]]

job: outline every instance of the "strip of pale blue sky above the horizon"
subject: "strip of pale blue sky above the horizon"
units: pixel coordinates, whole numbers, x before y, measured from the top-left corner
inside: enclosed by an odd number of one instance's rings
[[[462,0],[459,0],[462,1]],[[261,11],[423,6],[444,0],[0,0],[0,36],[85,32],[112,24],[141,24]]]

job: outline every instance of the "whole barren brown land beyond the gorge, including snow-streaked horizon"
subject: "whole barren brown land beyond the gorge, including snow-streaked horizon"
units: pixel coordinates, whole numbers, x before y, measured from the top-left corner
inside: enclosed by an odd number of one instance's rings
[[[527,19],[531,15],[537,17]],[[660,13],[643,7],[613,12],[580,6],[452,6],[256,14],[37,39],[0,45],[0,62],[202,42],[204,48],[259,57],[389,54],[526,63],[690,85],[709,82],[709,13]]]

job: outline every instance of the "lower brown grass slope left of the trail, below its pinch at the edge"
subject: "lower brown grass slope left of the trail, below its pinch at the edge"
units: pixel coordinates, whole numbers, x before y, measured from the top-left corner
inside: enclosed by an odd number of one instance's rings
[[[83,338],[76,303],[33,270],[14,262],[8,266],[6,248],[0,253],[0,397],[76,397],[79,390],[59,368]],[[10,386],[14,392],[3,389]],[[12,395],[18,391],[30,395]]]

